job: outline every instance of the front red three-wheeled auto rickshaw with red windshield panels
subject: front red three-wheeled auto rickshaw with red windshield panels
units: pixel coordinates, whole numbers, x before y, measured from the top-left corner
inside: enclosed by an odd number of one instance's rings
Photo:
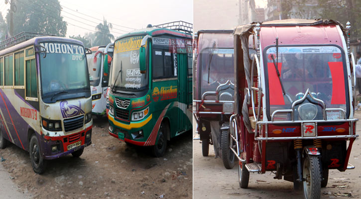
[[[319,199],[330,169],[344,172],[356,135],[350,23],[286,19],[238,26],[230,149],[239,183],[272,171]]]

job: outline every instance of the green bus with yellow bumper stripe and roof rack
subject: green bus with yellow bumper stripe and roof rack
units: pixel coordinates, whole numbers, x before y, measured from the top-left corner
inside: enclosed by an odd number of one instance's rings
[[[149,24],[116,39],[110,135],[161,157],[170,138],[192,129],[192,30],[184,21]]]

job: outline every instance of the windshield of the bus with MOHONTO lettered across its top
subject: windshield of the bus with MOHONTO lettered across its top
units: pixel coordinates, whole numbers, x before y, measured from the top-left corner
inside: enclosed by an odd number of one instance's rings
[[[45,102],[55,102],[61,94],[88,92],[89,76],[84,47],[70,43],[41,43],[41,93]],[[61,98],[64,99],[64,98]]]

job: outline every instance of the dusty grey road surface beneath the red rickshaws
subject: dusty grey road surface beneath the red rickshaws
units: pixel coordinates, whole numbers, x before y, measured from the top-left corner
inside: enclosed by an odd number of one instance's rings
[[[356,116],[361,119],[360,112]],[[357,133],[361,134],[361,122],[357,123]],[[293,190],[293,183],[275,180],[273,179],[274,174],[270,172],[249,174],[248,189],[241,189],[238,183],[237,166],[227,170],[224,168],[222,160],[214,157],[213,146],[210,146],[210,155],[203,157],[200,140],[193,140],[194,199],[303,198],[301,191]],[[351,193],[353,198],[361,198],[360,138],[354,142],[349,162],[356,166],[354,170],[346,170],[345,172],[330,170],[327,187],[321,189],[321,199],[336,198],[335,195],[344,193]]]

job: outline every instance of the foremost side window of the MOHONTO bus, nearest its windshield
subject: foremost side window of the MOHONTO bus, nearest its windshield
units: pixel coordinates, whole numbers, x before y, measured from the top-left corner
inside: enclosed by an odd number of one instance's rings
[[[26,97],[37,98],[35,59],[26,60]]]

